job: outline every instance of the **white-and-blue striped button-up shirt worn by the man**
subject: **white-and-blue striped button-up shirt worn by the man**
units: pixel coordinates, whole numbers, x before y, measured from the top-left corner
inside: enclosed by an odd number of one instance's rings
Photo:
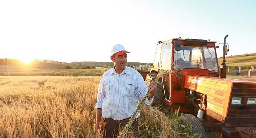
[[[118,74],[111,68],[101,77],[95,108],[102,109],[103,118],[126,119],[131,117],[139,105],[138,100],[143,99],[147,91],[146,83],[137,70],[125,67]],[[153,99],[146,98],[145,104],[150,105]],[[136,118],[139,116],[140,113]]]

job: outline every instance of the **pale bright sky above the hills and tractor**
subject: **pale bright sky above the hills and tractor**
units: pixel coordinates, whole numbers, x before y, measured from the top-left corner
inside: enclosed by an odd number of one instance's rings
[[[256,53],[255,7],[255,0],[1,0],[0,58],[112,62],[111,47],[121,44],[128,62],[153,63],[159,40],[218,44],[227,34],[227,56]]]

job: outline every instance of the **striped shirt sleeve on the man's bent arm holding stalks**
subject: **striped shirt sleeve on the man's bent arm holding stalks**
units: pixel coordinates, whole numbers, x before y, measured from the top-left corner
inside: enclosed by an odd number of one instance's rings
[[[137,75],[137,88],[135,90],[135,95],[137,96],[137,98],[139,100],[142,100],[146,96],[147,92],[148,92],[147,85],[146,85],[143,77],[140,75],[140,73],[138,73],[138,75]],[[153,96],[150,99],[146,98],[145,104],[150,105],[152,103],[154,97],[155,96]]]

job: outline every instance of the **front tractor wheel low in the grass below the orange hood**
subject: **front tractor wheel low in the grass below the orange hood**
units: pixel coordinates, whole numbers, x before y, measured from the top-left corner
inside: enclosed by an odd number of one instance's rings
[[[201,134],[201,138],[207,138],[205,134],[205,130],[201,122],[193,115],[183,114],[180,116],[180,119],[183,121],[184,125],[192,124],[192,129],[194,133]]]

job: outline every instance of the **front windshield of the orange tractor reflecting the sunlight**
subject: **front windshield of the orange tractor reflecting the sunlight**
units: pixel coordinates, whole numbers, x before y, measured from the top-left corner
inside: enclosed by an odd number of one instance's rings
[[[208,69],[218,72],[217,58],[214,47],[182,46],[180,51],[174,51],[175,70],[184,68]]]

